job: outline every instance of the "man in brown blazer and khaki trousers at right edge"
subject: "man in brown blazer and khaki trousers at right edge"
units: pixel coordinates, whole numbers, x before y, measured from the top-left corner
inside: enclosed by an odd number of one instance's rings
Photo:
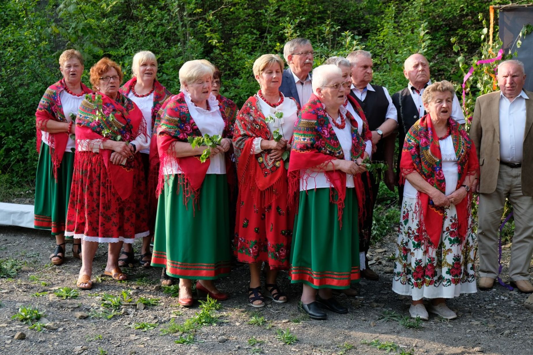
[[[498,226],[507,198],[515,224],[509,278],[521,292],[533,292],[528,271],[533,251],[533,93],[522,89],[525,80],[522,62],[504,61],[498,67],[499,91],[475,101],[470,137],[480,164],[476,189],[482,290],[498,277]]]

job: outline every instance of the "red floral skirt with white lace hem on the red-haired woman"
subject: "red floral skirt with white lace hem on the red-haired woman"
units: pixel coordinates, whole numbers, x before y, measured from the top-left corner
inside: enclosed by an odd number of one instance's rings
[[[76,152],[65,235],[89,242],[133,243],[149,235],[148,199],[141,155],[135,154],[133,192],[122,200],[108,179],[102,154]]]

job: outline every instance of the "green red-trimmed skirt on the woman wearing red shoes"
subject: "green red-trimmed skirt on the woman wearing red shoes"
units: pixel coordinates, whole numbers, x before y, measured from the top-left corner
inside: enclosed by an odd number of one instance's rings
[[[157,204],[152,266],[169,276],[211,280],[230,273],[228,184],[225,175],[208,174],[194,196],[183,201],[180,175],[168,176]]]

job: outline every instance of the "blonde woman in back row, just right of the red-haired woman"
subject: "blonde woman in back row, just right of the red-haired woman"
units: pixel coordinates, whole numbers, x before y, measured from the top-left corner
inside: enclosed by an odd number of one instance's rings
[[[120,88],[120,93],[130,98],[142,112],[143,122],[146,125],[147,134],[152,137],[154,132],[154,122],[156,115],[161,105],[171,95],[170,92],[159,83],[156,79],[157,75],[157,60],[154,53],[150,51],[142,51],[133,56],[132,63],[133,78]],[[149,227],[150,232],[154,232],[154,224],[156,219],[157,197],[157,165],[159,158],[157,154],[151,154],[151,151],[157,153],[157,146],[155,140],[151,142],[151,146],[140,151],[142,164],[144,168],[144,176],[146,178],[148,189],[148,203],[149,203]],[[154,167],[150,168],[150,163]],[[142,240],[141,255],[139,263],[142,267],[150,267],[151,253],[150,241],[151,235],[146,236]],[[134,262],[133,245],[130,243],[124,244],[122,255],[125,258],[118,259],[119,266],[128,266]],[[163,275],[166,273],[163,270]]]

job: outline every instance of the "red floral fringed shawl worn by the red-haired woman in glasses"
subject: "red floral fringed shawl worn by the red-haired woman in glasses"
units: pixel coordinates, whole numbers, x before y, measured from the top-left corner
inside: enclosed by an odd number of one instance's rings
[[[102,103],[98,103],[99,96]],[[101,110],[105,120],[99,120],[98,111]],[[110,120],[113,114],[115,120]],[[88,95],[79,106],[76,117],[76,144],[80,139],[110,139],[104,135],[104,130],[110,129],[112,137],[120,136],[120,141],[131,142],[139,134],[146,134],[146,127],[142,125],[142,112],[126,96],[118,93],[116,100],[102,94]],[[116,140],[116,139],[115,139]],[[133,160],[127,160],[126,164],[112,164],[109,161],[111,150],[100,150],[111,185],[115,187],[122,200],[130,197],[133,189],[133,176],[138,173],[133,168]]]

